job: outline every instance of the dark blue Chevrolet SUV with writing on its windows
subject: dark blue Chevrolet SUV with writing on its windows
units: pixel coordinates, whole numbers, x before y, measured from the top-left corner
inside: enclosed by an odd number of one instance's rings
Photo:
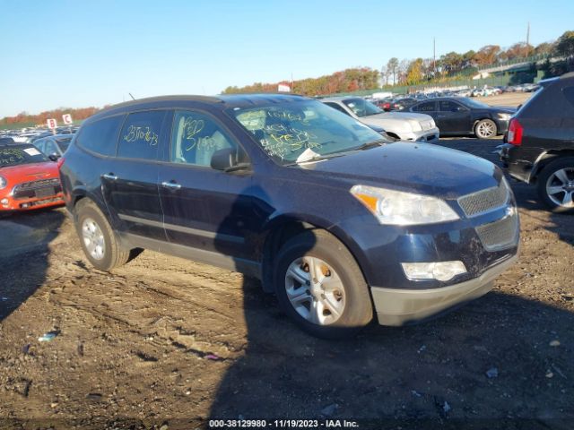
[[[141,248],[242,271],[317,336],[420,321],[479,297],[517,258],[499,168],[389,142],[283,95],[174,96],[109,107],[60,162],[88,260]]]

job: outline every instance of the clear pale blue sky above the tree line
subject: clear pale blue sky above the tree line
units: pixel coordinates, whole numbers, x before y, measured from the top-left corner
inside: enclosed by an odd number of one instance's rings
[[[0,0],[0,117],[317,77],[574,30],[574,2]]]

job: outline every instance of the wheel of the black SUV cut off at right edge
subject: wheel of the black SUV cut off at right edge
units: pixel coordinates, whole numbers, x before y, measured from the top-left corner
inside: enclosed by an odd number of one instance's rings
[[[536,178],[540,199],[554,212],[574,212],[574,157],[555,159]],[[561,189],[561,190],[560,190]]]

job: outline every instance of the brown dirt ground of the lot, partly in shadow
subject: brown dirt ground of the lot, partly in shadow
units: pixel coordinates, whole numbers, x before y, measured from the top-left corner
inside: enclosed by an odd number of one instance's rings
[[[499,143],[442,142],[490,159]],[[0,427],[328,417],[362,418],[360,428],[570,429],[574,218],[513,188],[521,257],[490,294],[345,341],[301,332],[238,273],[150,251],[95,271],[64,210],[0,220]],[[48,331],[57,337],[39,342]]]

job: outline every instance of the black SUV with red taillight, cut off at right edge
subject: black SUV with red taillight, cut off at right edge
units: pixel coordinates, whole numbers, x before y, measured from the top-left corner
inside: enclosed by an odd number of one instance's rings
[[[540,85],[510,120],[500,159],[553,211],[574,211],[574,73]]]

